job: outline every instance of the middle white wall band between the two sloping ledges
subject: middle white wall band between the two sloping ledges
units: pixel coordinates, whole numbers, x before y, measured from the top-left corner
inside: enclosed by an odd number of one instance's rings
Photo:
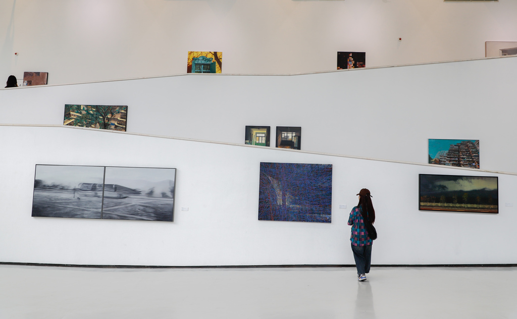
[[[0,124],[62,125],[65,104],[128,105],[127,131],[242,144],[300,126],[301,149],[428,162],[428,139],[479,140],[482,170],[517,173],[517,57],[302,75],[184,74],[0,90]],[[275,139],[271,138],[271,147]]]

